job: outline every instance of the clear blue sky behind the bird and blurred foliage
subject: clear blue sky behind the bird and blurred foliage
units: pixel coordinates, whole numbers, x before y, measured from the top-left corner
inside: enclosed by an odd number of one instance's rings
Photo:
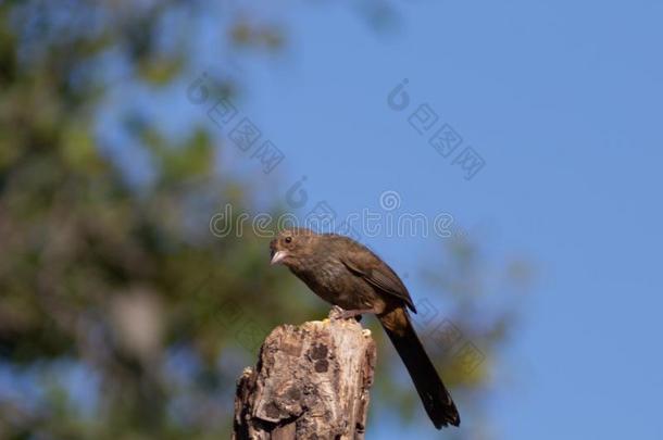
[[[227,160],[270,197],[305,175],[341,215],[396,190],[409,212],[453,213],[492,257],[535,263],[490,408],[503,438],[662,438],[663,3],[393,4],[388,35],[345,7],[282,11],[286,53],[240,68],[242,111],[287,158],[270,176]],[[403,78],[412,103],[399,113],[386,100]],[[474,179],[408,124],[421,103],[481,154]],[[401,273],[433,249],[368,244]]]

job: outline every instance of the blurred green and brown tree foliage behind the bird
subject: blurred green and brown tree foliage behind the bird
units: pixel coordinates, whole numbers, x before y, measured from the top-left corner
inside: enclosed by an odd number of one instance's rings
[[[176,84],[195,51],[182,32],[164,46],[160,27],[205,4],[0,2],[2,439],[227,437],[235,378],[266,332],[324,313],[291,293],[302,289],[293,277],[267,269],[265,239],[209,232],[221,203],[241,212],[251,194],[214,169],[222,142],[203,127],[171,141],[148,117],[126,117],[149,158],[147,184],[100,148],[97,118],[117,86],[109,59],[133,81]],[[278,27],[243,15],[226,27],[233,46],[285,43]],[[452,247],[461,281],[433,277],[455,293],[453,323],[487,357],[470,370],[438,344],[446,376],[471,392],[511,322],[474,319],[485,290],[462,281],[478,279],[474,252]],[[408,416],[416,395],[400,385],[383,378],[378,392]]]

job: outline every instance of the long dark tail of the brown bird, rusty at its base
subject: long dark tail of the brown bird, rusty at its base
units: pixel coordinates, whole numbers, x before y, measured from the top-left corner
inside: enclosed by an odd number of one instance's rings
[[[461,417],[440,379],[433,362],[418,340],[408,312],[403,307],[393,309],[378,316],[396,351],[403,360],[414,387],[418,392],[428,417],[437,429],[461,424]]]

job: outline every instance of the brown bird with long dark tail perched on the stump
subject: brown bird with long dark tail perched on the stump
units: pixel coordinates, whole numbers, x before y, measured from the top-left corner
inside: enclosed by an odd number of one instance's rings
[[[270,243],[272,264],[284,264],[315,294],[343,309],[343,318],[374,313],[401,356],[428,417],[437,429],[461,417],[418,340],[406,309],[416,313],[403,281],[356,241],[297,228]]]

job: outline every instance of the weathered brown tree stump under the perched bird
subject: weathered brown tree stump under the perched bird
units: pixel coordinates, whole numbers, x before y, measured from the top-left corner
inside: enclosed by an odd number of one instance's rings
[[[237,382],[233,439],[364,438],[375,341],[338,312],[267,336]]]

